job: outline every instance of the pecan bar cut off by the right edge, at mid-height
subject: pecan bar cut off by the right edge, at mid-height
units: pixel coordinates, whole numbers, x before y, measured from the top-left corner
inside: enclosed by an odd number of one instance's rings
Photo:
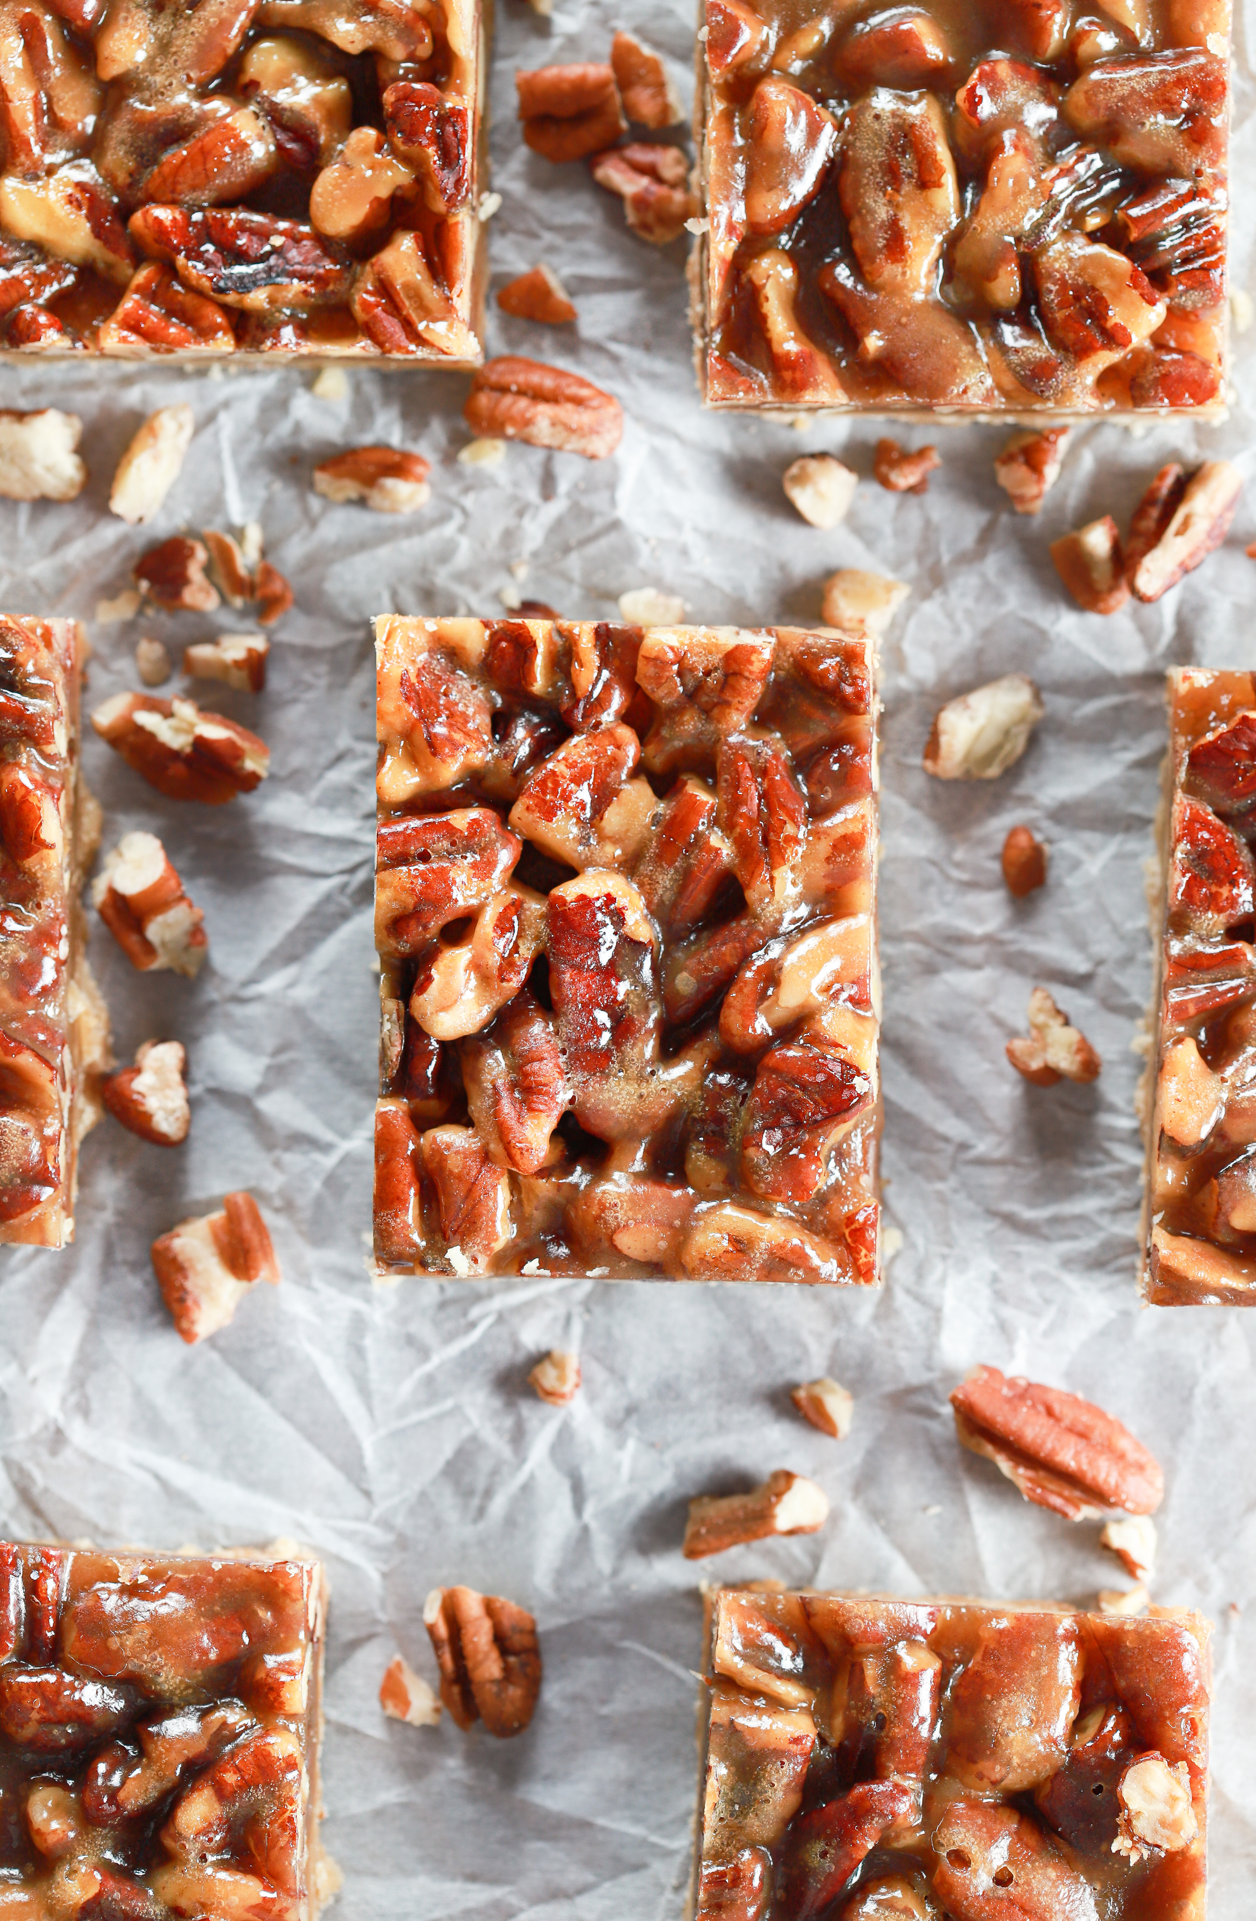
[[[1256,676],[1168,695],[1143,1291],[1256,1304]]]

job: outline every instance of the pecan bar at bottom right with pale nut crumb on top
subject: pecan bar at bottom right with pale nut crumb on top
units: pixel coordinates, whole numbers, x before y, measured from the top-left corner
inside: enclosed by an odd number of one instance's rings
[[[722,1589],[695,1921],[1202,1921],[1208,1633]]]

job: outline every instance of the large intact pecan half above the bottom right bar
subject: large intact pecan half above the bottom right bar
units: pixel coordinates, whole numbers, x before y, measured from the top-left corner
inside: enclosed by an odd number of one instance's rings
[[[1079,1395],[974,1368],[951,1395],[954,1431],[1026,1496],[1070,1521],[1114,1508],[1152,1514],[1164,1500],[1160,1464],[1112,1414]]]

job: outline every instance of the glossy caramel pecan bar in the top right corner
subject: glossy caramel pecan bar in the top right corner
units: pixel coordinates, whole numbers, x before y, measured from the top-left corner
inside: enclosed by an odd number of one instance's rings
[[[716,407],[1218,411],[1229,0],[707,0]]]

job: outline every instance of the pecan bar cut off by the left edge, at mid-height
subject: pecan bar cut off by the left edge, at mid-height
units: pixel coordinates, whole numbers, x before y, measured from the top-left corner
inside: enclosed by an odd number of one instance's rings
[[[75,1235],[109,1016],[86,964],[100,809],[79,770],[77,620],[0,615],[0,1241]]]

